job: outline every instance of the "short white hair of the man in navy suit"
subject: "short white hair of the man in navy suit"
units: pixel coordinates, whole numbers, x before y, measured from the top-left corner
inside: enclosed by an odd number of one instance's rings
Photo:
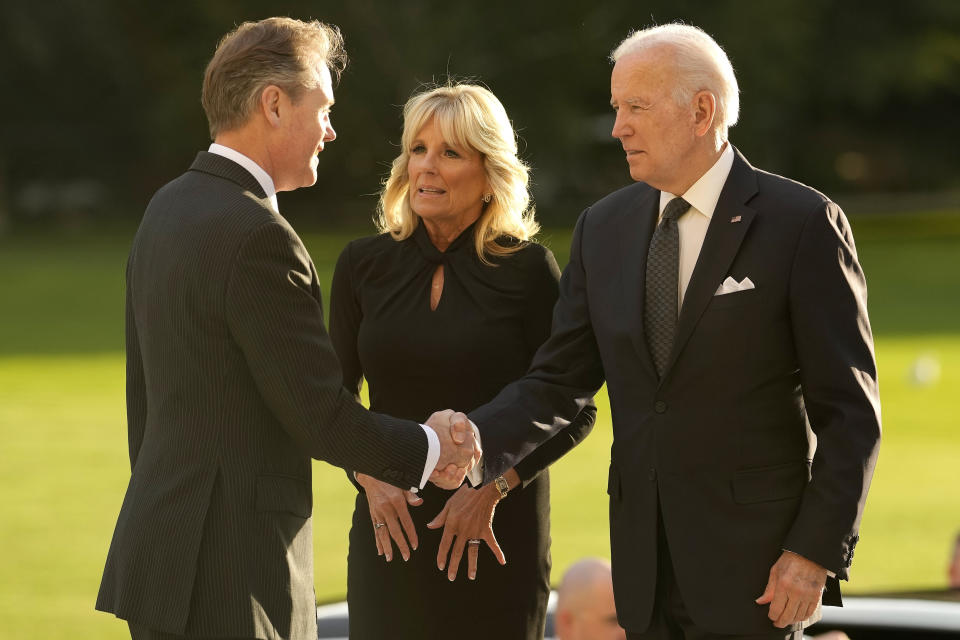
[[[673,99],[687,106],[698,91],[709,91],[717,100],[714,127],[721,141],[740,115],[740,89],[733,65],[724,50],[703,29],[671,23],[634,31],[610,54],[616,62],[622,56],[658,46],[673,50],[677,84]]]

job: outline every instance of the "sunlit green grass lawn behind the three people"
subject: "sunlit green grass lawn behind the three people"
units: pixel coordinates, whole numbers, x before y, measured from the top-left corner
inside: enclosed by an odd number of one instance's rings
[[[848,592],[938,587],[960,529],[960,212],[860,218],[854,229],[885,431]],[[546,236],[563,264],[568,234]],[[93,603],[129,474],[121,352],[129,237],[0,239],[3,638],[127,637]],[[349,237],[306,237],[325,281]],[[926,386],[909,377],[919,357],[940,365]],[[593,435],[553,468],[554,580],[580,556],[608,554],[605,394],[598,403]],[[315,472],[317,597],[338,599],[353,490],[339,469],[317,463]]]

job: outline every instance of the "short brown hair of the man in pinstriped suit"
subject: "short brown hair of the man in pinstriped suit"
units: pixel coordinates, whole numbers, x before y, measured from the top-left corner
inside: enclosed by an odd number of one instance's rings
[[[336,26],[293,18],[244,22],[220,40],[204,73],[201,102],[210,137],[243,126],[270,85],[296,102],[319,84],[321,64],[337,78],[346,67]]]

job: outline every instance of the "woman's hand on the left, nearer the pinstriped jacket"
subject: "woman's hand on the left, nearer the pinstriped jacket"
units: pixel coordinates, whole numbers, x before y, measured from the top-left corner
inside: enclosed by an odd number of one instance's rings
[[[418,507],[423,504],[423,498],[365,473],[357,473],[356,478],[367,494],[377,555],[386,556],[387,562],[393,560],[393,544],[390,542],[393,538],[400,555],[404,560],[409,560],[410,548],[416,549],[419,541],[407,505]]]

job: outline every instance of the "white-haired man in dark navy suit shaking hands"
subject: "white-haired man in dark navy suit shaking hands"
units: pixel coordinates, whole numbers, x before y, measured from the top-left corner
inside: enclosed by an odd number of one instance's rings
[[[840,602],[880,442],[850,225],[731,144],[736,77],[702,30],[638,31],[612,58],[636,183],[580,216],[550,339],[471,413],[484,476],[605,381],[627,636],[798,638]]]

